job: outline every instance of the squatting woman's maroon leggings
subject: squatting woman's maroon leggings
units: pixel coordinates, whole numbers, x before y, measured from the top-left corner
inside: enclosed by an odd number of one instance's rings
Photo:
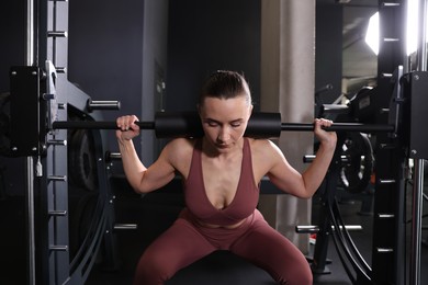
[[[140,258],[134,285],[158,285],[216,250],[229,250],[266,270],[279,284],[312,284],[302,252],[256,212],[235,229],[199,226],[187,209]]]

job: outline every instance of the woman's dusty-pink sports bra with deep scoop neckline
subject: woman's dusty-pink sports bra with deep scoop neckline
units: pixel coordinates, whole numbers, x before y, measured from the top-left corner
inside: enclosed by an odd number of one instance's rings
[[[206,196],[202,162],[202,139],[195,142],[188,180],[184,181],[187,207],[202,223],[228,226],[250,216],[259,201],[259,186],[255,184],[251,149],[248,138],[244,138],[243,162],[238,189],[234,200],[224,209],[217,209]]]

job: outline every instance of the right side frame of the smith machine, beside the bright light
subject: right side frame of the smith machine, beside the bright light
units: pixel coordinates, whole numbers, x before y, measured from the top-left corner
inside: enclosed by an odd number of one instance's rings
[[[426,27],[427,1],[420,0],[418,4],[418,26]],[[424,159],[428,155],[428,137],[423,132],[427,118],[424,110],[428,106],[424,94],[428,87],[426,29],[419,29],[417,62],[413,62],[405,52],[406,11],[407,1],[379,1],[378,86],[358,94],[349,105],[352,121],[394,126],[394,132],[375,135],[372,264],[360,254],[341,219],[335,190],[343,157],[337,151],[323,189],[318,225],[296,227],[297,232],[317,232],[312,260],[314,274],[326,271],[331,237],[352,284],[420,284]],[[341,133],[338,138],[341,146],[346,135]],[[405,194],[409,180],[413,180],[412,242],[407,254]]]

